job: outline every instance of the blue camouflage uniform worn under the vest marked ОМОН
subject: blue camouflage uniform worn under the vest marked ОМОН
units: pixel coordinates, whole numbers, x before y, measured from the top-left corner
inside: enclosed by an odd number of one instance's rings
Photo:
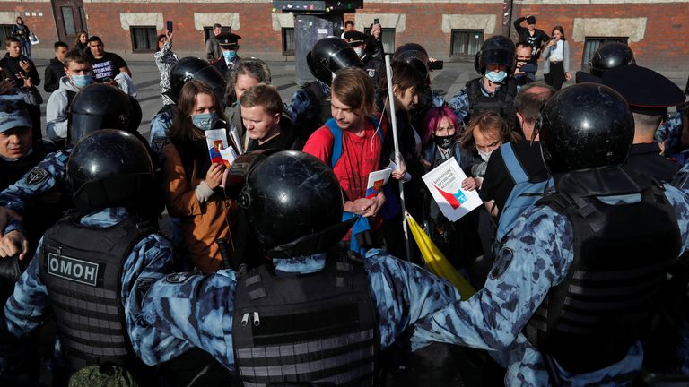
[[[92,212],[80,219],[81,224],[93,228],[108,228],[129,217],[129,212],[123,207]],[[42,246],[42,240],[37,249],[37,256]],[[172,249],[170,243],[158,234],[144,237],[133,248],[124,262],[122,269],[121,300],[123,306],[129,293],[134,287],[138,274],[145,269],[161,273],[172,271]],[[49,313],[48,289],[39,276],[39,260],[34,259],[22,273],[22,277],[14,287],[13,296],[4,305],[6,325],[0,326],[0,331],[6,331],[14,337],[33,331],[39,327],[46,314]],[[167,334],[155,330],[129,330],[129,337],[133,342],[154,341],[164,348],[170,340]],[[56,345],[56,359],[60,358],[59,343]],[[4,358],[0,353],[0,374],[4,368]]]

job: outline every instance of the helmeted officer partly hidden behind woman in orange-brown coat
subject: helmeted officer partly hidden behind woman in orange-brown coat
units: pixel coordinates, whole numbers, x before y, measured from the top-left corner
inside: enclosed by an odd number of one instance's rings
[[[162,148],[170,142],[169,131],[172,121],[177,115],[177,99],[182,87],[189,80],[196,79],[208,83],[215,91],[218,100],[224,101],[225,78],[214,66],[203,59],[185,57],[170,69],[170,91],[168,97],[174,102],[165,105],[151,119],[151,133],[149,142],[151,150],[156,155],[158,162],[162,164]]]

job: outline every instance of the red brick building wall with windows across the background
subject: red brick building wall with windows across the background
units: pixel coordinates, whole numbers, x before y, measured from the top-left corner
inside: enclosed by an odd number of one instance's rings
[[[552,27],[561,24],[565,35],[571,38],[573,18],[648,18],[644,38],[630,42],[640,64],[661,71],[686,71],[689,59],[689,4],[527,4],[515,1],[514,16],[534,14],[537,27],[550,33]],[[414,41],[428,49],[432,56],[448,59],[450,34],[441,30],[443,14],[495,14],[495,33],[501,33],[500,3],[488,4],[367,4],[360,13],[405,13],[406,30],[398,32],[397,45]],[[205,4],[205,3],[86,3],[88,26],[91,34],[100,35],[106,49],[118,52],[129,59],[148,60],[151,54],[134,55],[131,51],[129,30],[122,30],[120,12],[161,12],[163,20],[175,24],[175,50],[183,56],[203,56],[203,32],[194,27],[194,13],[240,13],[240,29],[235,30],[243,39],[240,41],[240,55],[261,56],[266,59],[280,59],[282,36],[272,28],[272,4]],[[211,8],[213,11],[211,11]],[[42,11],[43,17],[27,17],[32,30],[39,34],[41,43],[35,48],[49,48],[57,39],[55,21],[49,3],[2,3],[0,11]],[[345,20],[353,19],[352,14]],[[358,26],[361,27],[361,26]],[[162,32],[162,31],[160,31]],[[486,34],[486,38],[489,35]],[[71,43],[71,42],[69,42]],[[579,69],[584,42],[570,39],[572,71]]]

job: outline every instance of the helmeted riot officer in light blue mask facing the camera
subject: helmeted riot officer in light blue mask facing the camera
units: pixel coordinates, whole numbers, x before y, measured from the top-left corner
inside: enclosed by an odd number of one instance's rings
[[[468,122],[471,116],[492,110],[517,127],[517,82],[511,76],[516,64],[516,48],[510,38],[496,35],[485,40],[474,60],[474,68],[481,76],[467,82],[449,101],[458,120]]]

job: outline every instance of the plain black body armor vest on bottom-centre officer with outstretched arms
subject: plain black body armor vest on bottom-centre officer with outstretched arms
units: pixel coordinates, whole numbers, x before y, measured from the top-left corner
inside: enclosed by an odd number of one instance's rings
[[[237,280],[232,340],[246,386],[378,384],[379,332],[362,263],[329,254],[322,271]]]

